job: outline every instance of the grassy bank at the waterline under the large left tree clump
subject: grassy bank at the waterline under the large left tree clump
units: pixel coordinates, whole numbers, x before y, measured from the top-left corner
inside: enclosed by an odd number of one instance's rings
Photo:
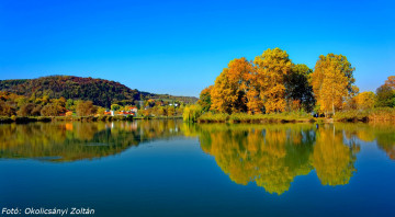
[[[198,118],[199,123],[290,123],[290,122],[315,122],[307,113],[279,113],[257,114],[213,114],[205,113]]]

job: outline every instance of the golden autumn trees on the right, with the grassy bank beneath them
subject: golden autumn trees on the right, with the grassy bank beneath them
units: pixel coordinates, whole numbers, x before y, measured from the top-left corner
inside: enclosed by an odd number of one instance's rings
[[[375,93],[360,92],[354,70],[343,55],[321,55],[313,70],[292,62],[285,50],[267,49],[250,61],[229,61],[183,117],[201,123],[395,121],[395,76]]]

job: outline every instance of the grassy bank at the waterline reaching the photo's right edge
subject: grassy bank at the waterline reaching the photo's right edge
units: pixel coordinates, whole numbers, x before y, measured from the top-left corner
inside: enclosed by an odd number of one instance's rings
[[[395,108],[377,107],[372,110],[351,110],[337,112],[336,122],[395,122]]]

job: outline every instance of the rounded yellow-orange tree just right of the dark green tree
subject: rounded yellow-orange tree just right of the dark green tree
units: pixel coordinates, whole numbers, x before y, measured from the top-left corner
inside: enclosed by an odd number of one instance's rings
[[[343,99],[354,94],[354,70],[346,56],[319,56],[312,73],[312,85],[319,110],[326,116],[329,111],[335,114],[337,108],[341,108]]]

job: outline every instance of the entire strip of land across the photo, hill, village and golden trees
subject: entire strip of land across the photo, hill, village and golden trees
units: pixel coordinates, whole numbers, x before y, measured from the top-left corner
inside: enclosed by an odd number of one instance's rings
[[[229,61],[198,102],[102,79],[4,80],[0,81],[0,123],[178,117],[199,123],[395,121],[395,76],[375,92],[360,92],[354,71],[343,55],[321,55],[311,69],[294,64],[285,50],[267,49],[253,60]],[[132,108],[138,112],[125,113]],[[124,115],[109,115],[110,110]]]

